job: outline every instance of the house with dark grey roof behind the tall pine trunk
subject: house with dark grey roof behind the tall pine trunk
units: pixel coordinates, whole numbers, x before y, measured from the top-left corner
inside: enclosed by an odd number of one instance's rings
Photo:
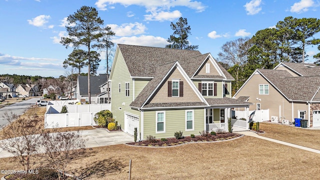
[[[106,79],[106,74],[90,76],[91,103],[108,103],[110,101],[107,95],[109,91],[107,90]],[[109,83],[109,89],[110,86]],[[88,102],[88,77],[86,75],[78,75],[74,94],[79,101]]]

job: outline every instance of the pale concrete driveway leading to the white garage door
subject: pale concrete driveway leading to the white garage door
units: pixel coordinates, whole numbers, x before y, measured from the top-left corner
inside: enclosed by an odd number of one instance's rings
[[[107,132],[103,129],[79,130],[79,132],[86,140],[86,148],[122,144],[134,141],[133,137],[125,132]],[[11,153],[0,148],[0,158],[12,156],[13,155]]]

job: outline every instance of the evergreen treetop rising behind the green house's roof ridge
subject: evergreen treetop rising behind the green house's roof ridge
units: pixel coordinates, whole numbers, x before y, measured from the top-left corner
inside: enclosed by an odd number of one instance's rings
[[[166,40],[170,44],[165,45],[166,48],[177,48],[177,49],[189,49],[194,50],[198,48],[198,45],[189,45],[188,36],[191,34],[190,26],[188,25],[187,19],[180,17],[179,20],[174,24],[171,22],[170,27],[173,34]],[[177,35],[177,36],[175,36]]]

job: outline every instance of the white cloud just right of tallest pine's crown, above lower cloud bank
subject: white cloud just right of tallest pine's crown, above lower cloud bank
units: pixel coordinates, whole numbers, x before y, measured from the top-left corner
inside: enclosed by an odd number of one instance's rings
[[[142,33],[145,33],[145,30],[146,30],[145,25],[138,22],[123,23],[121,25],[107,24],[107,26],[111,27],[111,30],[115,32],[116,36],[130,36],[130,35],[142,34]]]

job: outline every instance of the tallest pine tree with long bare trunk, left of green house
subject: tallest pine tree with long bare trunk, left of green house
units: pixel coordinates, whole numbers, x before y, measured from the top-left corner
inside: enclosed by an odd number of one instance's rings
[[[84,46],[88,64],[91,64],[90,51],[98,46],[98,41],[103,35],[100,27],[103,25],[103,20],[98,16],[98,12],[94,7],[82,6],[67,17],[67,22],[75,25],[66,26],[69,37],[62,37],[60,43],[65,45],[66,48],[69,45],[74,48]],[[88,65],[88,102],[91,103],[90,65]]]

